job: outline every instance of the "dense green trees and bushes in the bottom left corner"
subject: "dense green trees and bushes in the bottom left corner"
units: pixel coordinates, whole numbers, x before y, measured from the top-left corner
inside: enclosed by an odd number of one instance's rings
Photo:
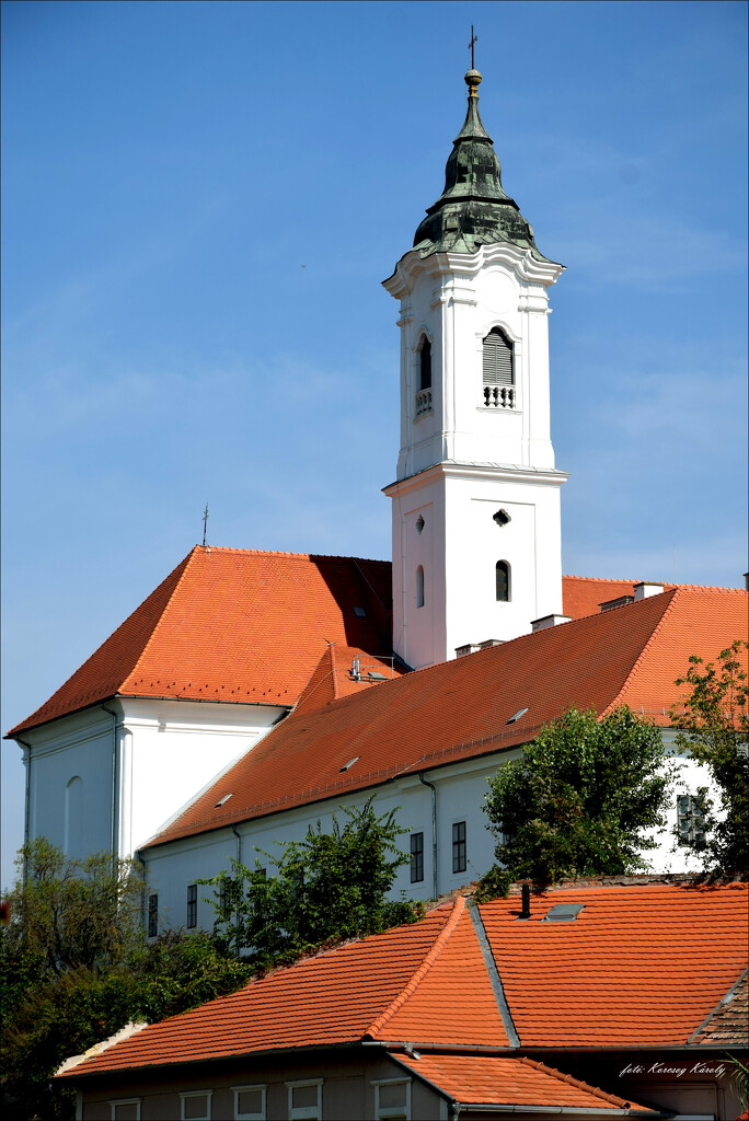
[[[3,1121],[72,1119],[75,1096],[49,1080],[71,1055],[130,1020],[158,1020],[232,992],[251,967],[210,935],[142,937],[142,881],[128,861],[68,860],[47,841],[21,850],[25,876],[0,928]]]

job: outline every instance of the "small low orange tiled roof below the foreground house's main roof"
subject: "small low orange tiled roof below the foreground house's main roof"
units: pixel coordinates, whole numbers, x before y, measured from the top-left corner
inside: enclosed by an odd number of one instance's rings
[[[391,1053],[392,1054],[392,1053]],[[659,1117],[659,1110],[637,1105],[616,1094],[563,1074],[535,1059],[494,1055],[394,1055],[417,1077],[464,1105],[536,1105],[548,1109],[631,1110]]]

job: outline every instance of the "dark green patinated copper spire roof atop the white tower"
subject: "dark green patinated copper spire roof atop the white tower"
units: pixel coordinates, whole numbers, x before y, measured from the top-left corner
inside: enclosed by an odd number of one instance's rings
[[[494,145],[479,115],[477,90],[481,75],[465,75],[469,103],[465,122],[453,142],[445,168],[445,189],[414,238],[422,257],[437,251],[473,253],[479,245],[509,241],[530,249],[534,257],[548,258],[536,248],[533,226],[518,204],[502,189],[502,172]]]

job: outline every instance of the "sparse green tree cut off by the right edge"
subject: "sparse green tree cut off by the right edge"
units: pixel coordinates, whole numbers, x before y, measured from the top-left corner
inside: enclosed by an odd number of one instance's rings
[[[671,711],[681,729],[677,745],[708,767],[718,787],[718,805],[706,789],[699,791],[704,837],[687,842],[716,874],[749,870],[749,687],[739,660],[748,648],[737,639],[721,650],[718,665],[692,655],[686,674],[676,679],[687,687],[683,703]]]

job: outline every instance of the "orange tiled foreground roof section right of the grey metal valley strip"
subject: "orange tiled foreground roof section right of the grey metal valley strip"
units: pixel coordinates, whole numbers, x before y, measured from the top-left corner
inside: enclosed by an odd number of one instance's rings
[[[480,907],[525,1047],[678,1046],[747,965],[748,886],[567,888]],[[582,904],[573,923],[542,921]],[[713,1000],[713,998],[715,998]]]

